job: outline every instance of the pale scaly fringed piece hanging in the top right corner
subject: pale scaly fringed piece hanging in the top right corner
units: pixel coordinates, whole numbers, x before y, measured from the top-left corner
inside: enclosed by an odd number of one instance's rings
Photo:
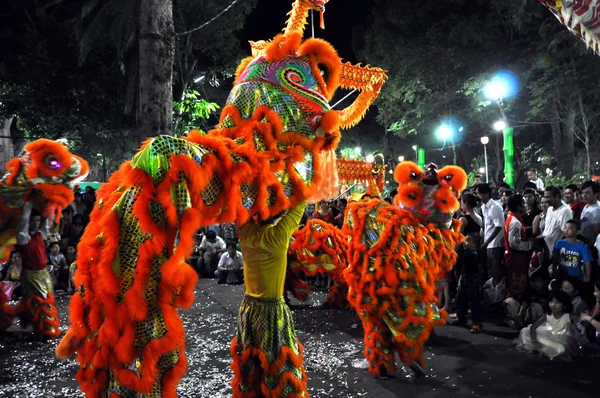
[[[558,20],[600,55],[599,0],[541,0]]]

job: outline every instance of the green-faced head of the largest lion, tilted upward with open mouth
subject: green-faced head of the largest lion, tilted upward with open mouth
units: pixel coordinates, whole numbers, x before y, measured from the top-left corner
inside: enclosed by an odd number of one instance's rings
[[[335,150],[340,128],[350,128],[361,120],[387,79],[380,68],[343,63],[324,40],[303,40],[309,12],[320,12],[322,20],[326,3],[296,0],[283,34],[271,41],[250,42],[252,56],[239,65],[227,100],[243,119],[261,107],[274,110],[281,123],[276,141],[299,144],[311,152]],[[359,94],[347,108],[334,110],[330,101],[338,88]],[[235,126],[234,119],[226,107],[219,127]]]

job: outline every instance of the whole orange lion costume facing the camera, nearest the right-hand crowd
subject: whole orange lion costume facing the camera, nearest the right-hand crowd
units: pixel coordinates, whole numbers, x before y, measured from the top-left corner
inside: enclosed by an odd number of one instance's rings
[[[454,266],[454,246],[463,239],[451,214],[467,177],[456,166],[437,171],[432,164],[423,171],[412,162],[401,163],[394,177],[396,206],[377,199],[348,206],[343,276],[363,323],[369,372],[394,371],[398,353],[422,375],[423,344],[446,317],[437,307],[435,282]]]

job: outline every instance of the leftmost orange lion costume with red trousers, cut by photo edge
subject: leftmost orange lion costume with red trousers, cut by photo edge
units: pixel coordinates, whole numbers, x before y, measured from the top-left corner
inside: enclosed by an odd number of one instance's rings
[[[87,175],[88,164],[62,143],[41,139],[27,144],[24,154],[8,162],[7,169],[8,174],[0,181],[0,261],[8,260],[11,248],[17,245],[24,259],[24,294],[17,307],[12,308],[6,304],[8,298],[0,293],[0,329],[10,327],[18,316],[23,327],[32,324],[36,335],[57,337],[59,319],[52,281],[45,269],[43,233],[46,221],[58,222],[63,208],[73,202],[73,187]],[[30,231],[32,210],[43,217],[40,232]],[[34,247],[44,253],[37,256]]]

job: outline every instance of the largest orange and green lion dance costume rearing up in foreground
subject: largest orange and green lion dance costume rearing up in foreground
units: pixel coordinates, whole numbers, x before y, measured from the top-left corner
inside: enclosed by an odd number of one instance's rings
[[[194,300],[185,259],[201,226],[265,220],[332,194],[322,182],[335,180],[339,128],[360,120],[386,76],[342,64],[327,42],[302,41],[309,10],[324,3],[296,1],[283,35],[251,43],[217,129],[148,140],[98,191],[78,247],[71,327],[56,350],[77,353],[88,397],[177,396],[186,368],[177,308]],[[329,106],[338,87],[360,92],[340,111]],[[301,346],[267,332],[234,340],[233,395],[306,396]],[[263,346],[257,362],[251,352]]]

